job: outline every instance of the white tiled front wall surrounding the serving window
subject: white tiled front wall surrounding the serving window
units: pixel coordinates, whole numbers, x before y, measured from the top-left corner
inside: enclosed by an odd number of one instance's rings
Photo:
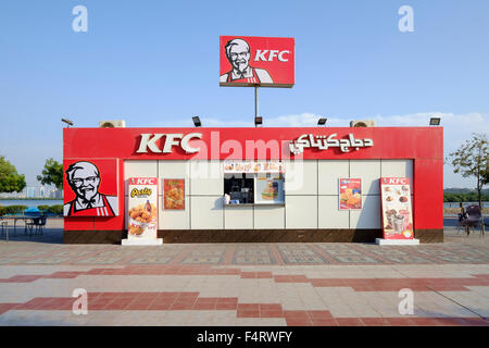
[[[220,161],[126,161],[124,178],[160,178],[161,229],[380,228],[380,176],[408,176],[411,160],[286,162],[286,206],[224,208]],[[362,179],[363,209],[339,211],[338,178]],[[164,210],[163,178],[185,178],[186,209]],[[127,195],[127,185],[126,191]]]

